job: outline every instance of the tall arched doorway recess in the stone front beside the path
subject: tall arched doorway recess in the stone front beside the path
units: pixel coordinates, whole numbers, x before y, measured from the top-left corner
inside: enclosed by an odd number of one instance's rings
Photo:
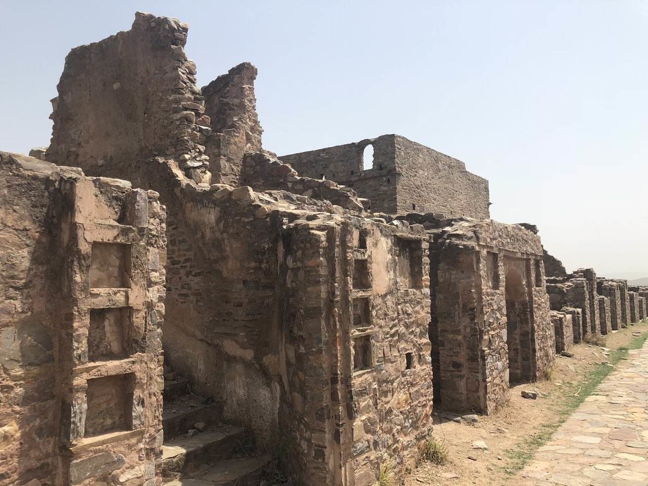
[[[506,273],[506,345],[509,350],[509,383],[533,380],[533,332],[531,305],[522,273],[509,268]]]

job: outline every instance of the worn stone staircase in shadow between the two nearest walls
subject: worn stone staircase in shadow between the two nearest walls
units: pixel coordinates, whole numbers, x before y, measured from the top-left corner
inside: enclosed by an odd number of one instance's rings
[[[172,378],[172,379],[169,379]],[[220,422],[222,408],[165,373],[164,444],[158,474],[164,486],[257,486],[267,456],[253,456],[240,427]]]

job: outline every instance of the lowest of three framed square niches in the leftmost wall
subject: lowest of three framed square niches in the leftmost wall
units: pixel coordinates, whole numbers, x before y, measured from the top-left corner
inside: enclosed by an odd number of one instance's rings
[[[133,373],[87,380],[84,437],[131,430],[134,387]]]

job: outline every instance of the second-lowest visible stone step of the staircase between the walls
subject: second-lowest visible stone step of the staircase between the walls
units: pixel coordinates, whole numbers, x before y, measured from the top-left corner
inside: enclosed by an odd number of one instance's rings
[[[243,440],[242,428],[219,426],[192,437],[165,441],[159,472],[165,480],[192,476],[204,464],[229,459]]]

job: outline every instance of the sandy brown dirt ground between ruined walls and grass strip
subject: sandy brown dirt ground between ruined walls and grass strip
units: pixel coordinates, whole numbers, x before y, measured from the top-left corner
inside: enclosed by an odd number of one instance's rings
[[[648,321],[627,329],[614,331],[603,336],[603,347],[616,349],[632,340],[632,332],[648,330]],[[448,449],[450,461],[443,466],[423,463],[413,470],[405,480],[406,486],[448,485],[448,486],[508,486],[515,485],[515,476],[505,472],[513,463],[507,457],[507,449],[524,441],[542,424],[559,419],[564,395],[575,393],[583,376],[596,364],[607,360],[607,353],[597,345],[579,343],[569,351],[573,358],[557,356],[555,369],[550,380],[533,384],[522,384],[511,388],[511,401],[507,406],[490,416],[480,416],[474,424],[456,423],[435,417],[433,435]],[[537,400],[521,397],[522,390],[535,390]],[[475,441],[484,441],[487,450],[474,448]],[[472,457],[473,459],[470,459]],[[455,477],[456,476],[456,477]]]

